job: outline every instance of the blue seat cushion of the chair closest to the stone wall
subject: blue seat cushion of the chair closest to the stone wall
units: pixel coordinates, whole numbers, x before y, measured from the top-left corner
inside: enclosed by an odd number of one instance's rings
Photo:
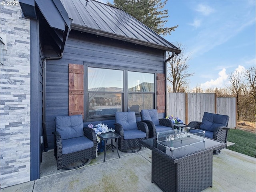
[[[62,154],[74,153],[93,147],[92,140],[85,136],[62,140]]]

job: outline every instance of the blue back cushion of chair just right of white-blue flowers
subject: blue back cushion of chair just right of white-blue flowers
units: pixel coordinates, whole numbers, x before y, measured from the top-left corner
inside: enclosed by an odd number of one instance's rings
[[[116,112],[116,123],[121,124],[124,130],[138,129],[135,112]]]

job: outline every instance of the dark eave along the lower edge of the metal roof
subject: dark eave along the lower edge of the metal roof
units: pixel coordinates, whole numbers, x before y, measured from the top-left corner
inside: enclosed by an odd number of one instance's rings
[[[102,30],[99,30],[99,29],[93,29],[91,27],[81,26],[81,25],[77,25],[77,24],[71,24],[71,29],[78,30],[78,31],[83,31],[83,32],[91,33],[91,34],[95,34],[95,35],[100,35],[100,36],[104,36],[104,37],[109,37],[109,38],[112,38],[112,39],[117,39],[117,40],[121,40],[121,41],[125,41],[125,42],[135,43],[135,44],[138,44],[138,45],[144,45],[144,46],[147,46],[147,47],[152,47],[152,48],[156,48],[156,49],[160,49],[160,50],[164,50],[164,51],[171,51],[171,52],[174,52],[176,54],[179,54],[181,52],[180,49],[174,49],[172,47],[158,45],[158,44],[150,43],[150,42],[147,42],[147,41],[142,41],[142,40],[139,40],[139,39],[133,39],[133,38],[126,37],[126,36],[123,36],[123,35],[109,33],[107,31],[102,31]]]

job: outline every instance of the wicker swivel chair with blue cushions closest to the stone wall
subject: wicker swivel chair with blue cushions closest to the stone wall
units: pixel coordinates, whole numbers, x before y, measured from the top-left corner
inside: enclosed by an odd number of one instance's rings
[[[58,169],[82,167],[88,159],[96,158],[96,133],[83,125],[82,115],[55,118],[54,156]]]

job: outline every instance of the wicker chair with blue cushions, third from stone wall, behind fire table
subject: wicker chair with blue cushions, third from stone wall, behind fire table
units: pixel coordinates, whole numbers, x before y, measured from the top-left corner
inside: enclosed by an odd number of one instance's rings
[[[169,131],[174,129],[171,120],[166,118],[158,119],[156,109],[141,110],[140,112],[142,122],[148,125],[148,137],[156,137],[157,132]]]

